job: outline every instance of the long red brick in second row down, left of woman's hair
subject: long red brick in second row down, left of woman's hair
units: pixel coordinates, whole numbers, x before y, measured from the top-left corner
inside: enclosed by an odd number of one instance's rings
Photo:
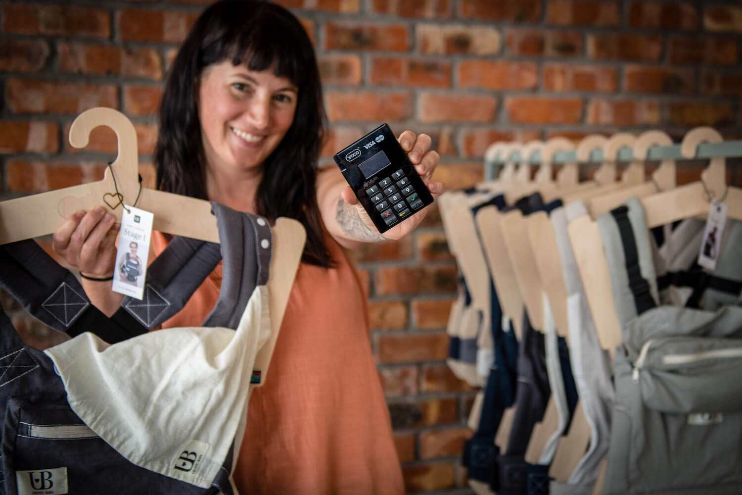
[[[62,72],[162,79],[162,62],[156,50],[62,42],[57,52]]]

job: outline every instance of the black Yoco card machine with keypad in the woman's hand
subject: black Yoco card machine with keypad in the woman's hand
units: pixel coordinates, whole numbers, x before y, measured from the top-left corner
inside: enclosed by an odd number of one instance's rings
[[[333,156],[378,232],[433,203],[389,125],[380,125]]]

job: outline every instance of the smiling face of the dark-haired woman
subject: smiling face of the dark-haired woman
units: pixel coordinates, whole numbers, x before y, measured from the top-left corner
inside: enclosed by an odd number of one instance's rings
[[[198,116],[211,172],[255,168],[275,150],[294,120],[298,91],[289,79],[226,60],[206,68]]]

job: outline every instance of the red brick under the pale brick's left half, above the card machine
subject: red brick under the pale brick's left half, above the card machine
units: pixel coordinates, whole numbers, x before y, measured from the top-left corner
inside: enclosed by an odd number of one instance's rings
[[[375,58],[371,61],[371,82],[378,85],[408,85],[450,88],[451,65],[420,59]]]

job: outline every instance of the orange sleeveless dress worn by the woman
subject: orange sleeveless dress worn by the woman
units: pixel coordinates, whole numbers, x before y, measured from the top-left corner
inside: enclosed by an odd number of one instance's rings
[[[299,266],[266,384],[252,392],[234,482],[241,495],[401,494],[358,274],[325,233],[336,267]],[[157,255],[168,241],[152,236]],[[220,263],[162,327],[199,325],[219,297]]]

